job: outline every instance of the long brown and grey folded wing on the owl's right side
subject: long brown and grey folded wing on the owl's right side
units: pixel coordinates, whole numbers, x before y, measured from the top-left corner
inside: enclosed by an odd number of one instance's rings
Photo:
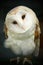
[[[41,33],[41,30],[40,30],[40,26],[39,26],[39,21],[37,20],[37,22],[36,22],[36,30],[35,30],[35,39],[34,39],[35,45],[36,45],[36,48],[35,48],[35,51],[34,51],[35,56],[39,55],[40,33]]]

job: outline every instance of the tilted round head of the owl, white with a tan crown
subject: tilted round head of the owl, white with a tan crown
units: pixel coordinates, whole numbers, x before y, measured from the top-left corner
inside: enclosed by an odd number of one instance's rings
[[[36,23],[37,17],[34,11],[26,6],[18,6],[8,12],[5,18],[5,34],[25,33]]]

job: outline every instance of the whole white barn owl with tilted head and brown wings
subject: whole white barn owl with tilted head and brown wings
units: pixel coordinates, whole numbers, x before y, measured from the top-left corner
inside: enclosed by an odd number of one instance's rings
[[[4,46],[16,55],[38,56],[40,47],[40,25],[35,12],[26,6],[10,10],[5,18]]]

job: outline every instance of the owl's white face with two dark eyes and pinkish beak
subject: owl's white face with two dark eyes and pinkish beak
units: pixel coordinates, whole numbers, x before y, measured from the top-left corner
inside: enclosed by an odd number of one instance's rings
[[[28,13],[25,10],[18,10],[16,14],[8,16],[9,29],[16,33],[23,33],[32,24],[29,21]]]

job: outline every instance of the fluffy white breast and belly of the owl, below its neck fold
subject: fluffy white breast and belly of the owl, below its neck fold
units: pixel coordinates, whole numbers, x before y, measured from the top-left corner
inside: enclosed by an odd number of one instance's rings
[[[5,42],[5,46],[11,48],[17,55],[30,55],[35,49],[35,43],[34,35],[32,34],[32,37],[29,37],[27,39],[8,38]]]

